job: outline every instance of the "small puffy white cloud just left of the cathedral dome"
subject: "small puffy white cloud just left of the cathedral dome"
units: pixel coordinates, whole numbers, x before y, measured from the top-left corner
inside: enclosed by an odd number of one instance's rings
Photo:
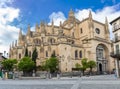
[[[50,23],[48,24],[51,24],[52,20],[54,21],[54,25],[56,26],[59,26],[60,24],[60,21],[61,22],[64,22],[66,20],[64,14],[62,12],[53,12],[50,16],[49,16],[49,19],[50,19]]]

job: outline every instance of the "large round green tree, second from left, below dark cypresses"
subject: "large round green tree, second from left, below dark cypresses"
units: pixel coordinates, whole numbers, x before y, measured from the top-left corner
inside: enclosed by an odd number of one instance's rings
[[[23,71],[24,75],[32,72],[34,67],[35,67],[35,63],[34,63],[34,61],[32,61],[32,59],[30,57],[24,57],[18,63],[18,69],[20,71]]]

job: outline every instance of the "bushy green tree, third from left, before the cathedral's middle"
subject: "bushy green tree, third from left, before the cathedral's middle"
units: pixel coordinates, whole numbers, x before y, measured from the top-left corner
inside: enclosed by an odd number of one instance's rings
[[[56,70],[58,70],[58,59],[56,57],[47,59],[44,67],[47,71],[50,71],[50,73],[54,73]]]

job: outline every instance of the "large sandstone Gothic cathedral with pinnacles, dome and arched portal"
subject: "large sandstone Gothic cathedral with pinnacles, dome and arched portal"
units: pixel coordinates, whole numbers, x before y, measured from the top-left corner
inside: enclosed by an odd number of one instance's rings
[[[61,72],[71,72],[76,63],[81,63],[82,58],[94,60],[98,72],[110,72],[114,68],[114,60],[110,57],[111,41],[107,18],[105,23],[98,22],[89,16],[82,21],[75,18],[72,10],[68,18],[59,26],[41,22],[36,24],[35,31],[28,25],[27,33],[19,32],[18,41],[10,46],[9,57],[20,60],[25,55],[25,49],[32,57],[36,48],[38,57],[36,65],[42,65],[52,54],[59,59]]]

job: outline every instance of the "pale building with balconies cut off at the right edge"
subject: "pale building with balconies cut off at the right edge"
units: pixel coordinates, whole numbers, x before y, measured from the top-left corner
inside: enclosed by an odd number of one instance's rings
[[[120,77],[120,16],[110,22],[112,25],[112,31],[114,34],[113,45],[114,51],[111,53],[111,56],[115,58],[116,64],[116,73],[117,77]]]

